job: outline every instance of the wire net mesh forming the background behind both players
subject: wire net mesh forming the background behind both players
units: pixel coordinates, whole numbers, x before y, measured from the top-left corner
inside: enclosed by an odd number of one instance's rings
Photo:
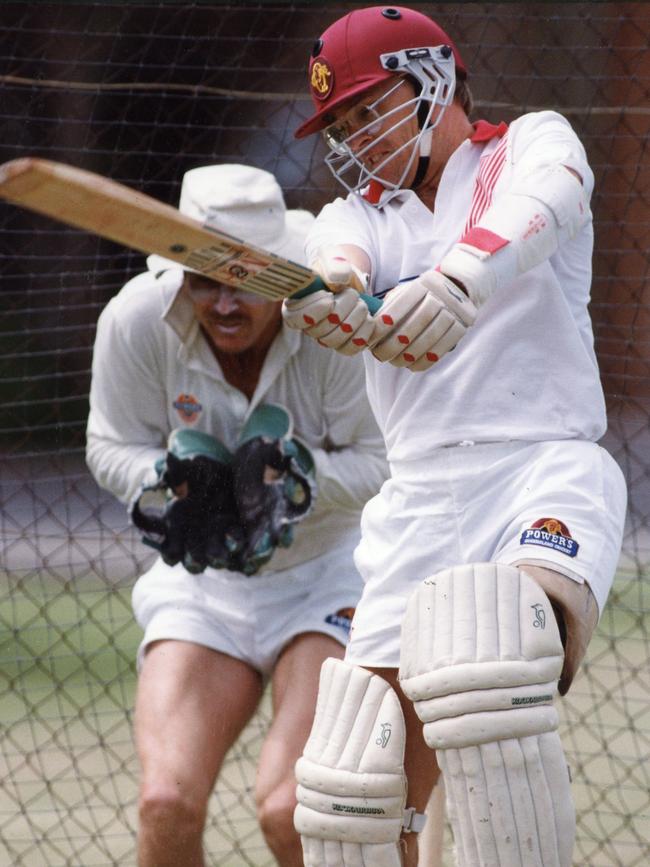
[[[3,3],[0,160],[61,160],[170,204],[186,170],[244,162],[275,173],[289,207],[316,211],[337,191],[320,143],[292,132],[310,111],[312,43],[351,8]],[[592,317],[605,445],[630,507],[610,601],[562,703],[562,735],[576,863],[640,867],[650,851],[650,7],[418,8],[457,37],[475,116],[558,109],[596,176]],[[0,863],[128,867],[140,637],[130,588],[148,554],[89,477],[83,447],[97,316],[143,259],[4,203],[0,225]],[[227,760],[208,863],[273,863],[251,797],[267,724],[264,705]]]

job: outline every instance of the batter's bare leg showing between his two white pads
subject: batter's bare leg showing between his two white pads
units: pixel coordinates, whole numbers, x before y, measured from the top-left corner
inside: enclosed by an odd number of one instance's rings
[[[408,805],[414,807],[418,813],[426,813],[431,792],[440,776],[436,754],[425,743],[422,735],[422,722],[415,713],[413,702],[402,693],[399,687],[397,670],[394,668],[370,670],[388,681],[399,698],[406,724],[404,770],[408,779]],[[439,817],[435,818],[439,821]],[[433,817],[427,816],[427,822],[432,819]],[[419,834],[402,834],[404,867],[416,867],[418,864],[418,837]],[[438,865],[430,864],[427,867],[438,867]]]

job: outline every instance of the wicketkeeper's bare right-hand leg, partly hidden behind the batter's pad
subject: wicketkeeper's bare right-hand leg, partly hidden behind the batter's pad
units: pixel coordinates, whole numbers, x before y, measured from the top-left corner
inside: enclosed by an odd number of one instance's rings
[[[293,826],[294,766],[311,730],[321,664],[343,652],[328,635],[308,632],[285,648],[273,673],[273,724],[262,746],[255,797],[266,842],[282,867],[303,864]]]

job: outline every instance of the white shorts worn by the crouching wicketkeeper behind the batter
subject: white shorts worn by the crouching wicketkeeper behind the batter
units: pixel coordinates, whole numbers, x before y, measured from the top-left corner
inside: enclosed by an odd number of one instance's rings
[[[146,646],[161,639],[211,647],[265,676],[296,635],[322,632],[345,645],[362,586],[352,562],[357,538],[300,566],[250,578],[214,569],[192,575],[157,560],[133,588],[144,629],[138,668]]]

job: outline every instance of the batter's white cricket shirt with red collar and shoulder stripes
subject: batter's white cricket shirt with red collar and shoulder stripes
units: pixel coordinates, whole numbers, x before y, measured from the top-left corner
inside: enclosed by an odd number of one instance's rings
[[[593,175],[568,122],[555,112],[509,127],[480,122],[447,163],[432,213],[404,191],[383,207],[358,195],[327,205],[310,232],[308,261],[330,244],[355,244],[372,265],[372,291],[434,268],[515,179],[546,163]],[[391,464],[422,461],[462,441],[597,440],[605,406],[587,304],[589,222],[556,254],[495,292],[453,352],[412,373],[364,352],[370,402]],[[395,467],[394,467],[395,469]]]

